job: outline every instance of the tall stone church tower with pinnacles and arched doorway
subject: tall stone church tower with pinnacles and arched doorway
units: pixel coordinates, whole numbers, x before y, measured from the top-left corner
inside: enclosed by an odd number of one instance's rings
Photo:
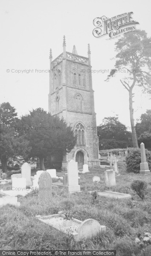
[[[63,53],[52,61],[50,49],[49,113],[64,117],[72,125],[78,140],[75,148],[63,157],[62,167],[74,159],[78,169],[87,163],[99,166],[99,147],[96,130],[96,113],[92,88],[90,46],[88,58],[66,51],[65,36]]]

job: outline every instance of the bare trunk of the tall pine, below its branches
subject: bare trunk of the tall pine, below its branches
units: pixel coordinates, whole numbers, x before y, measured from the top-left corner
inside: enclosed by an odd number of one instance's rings
[[[129,89],[129,109],[130,109],[130,119],[131,119],[131,129],[132,129],[132,140],[134,148],[138,148],[136,130],[134,125],[134,109],[133,109],[133,93],[132,89]]]

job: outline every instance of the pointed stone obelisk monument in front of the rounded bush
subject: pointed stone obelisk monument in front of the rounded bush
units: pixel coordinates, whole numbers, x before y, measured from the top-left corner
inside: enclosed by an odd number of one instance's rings
[[[144,143],[140,144],[140,153],[141,153],[141,163],[140,163],[140,174],[150,174],[150,170],[148,168],[148,163],[146,161],[146,154],[145,154],[145,145]]]

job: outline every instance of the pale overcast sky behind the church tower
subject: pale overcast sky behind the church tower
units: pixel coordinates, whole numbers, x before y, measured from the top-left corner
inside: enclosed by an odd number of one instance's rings
[[[137,28],[151,36],[150,0],[1,0],[0,103],[10,102],[18,116],[32,108],[48,111],[49,73],[35,73],[35,69],[49,70],[49,49],[53,59],[60,55],[63,35],[69,52],[75,44],[78,55],[87,57],[90,44],[93,70],[113,68],[114,60],[110,59],[116,55],[117,39],[95,38],[93,19],[125,12],[134,12]],[[7,73],[7,69],[34,72]],[[109,82],[105,82],[106,78],[106,73],[92,75],[97,125],[104,117],[118,114],[119,120],[130,126],[128,92],[118,76]],[[134,92],[134,117],[138,119],[151,108],[151,99],[138,88]]]

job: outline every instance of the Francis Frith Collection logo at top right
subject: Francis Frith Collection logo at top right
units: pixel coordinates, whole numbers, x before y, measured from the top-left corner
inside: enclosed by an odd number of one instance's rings
[[[96,28],[93,29],[93,35],[96,38],[108,35],[108,39],[112,39],[124,33],[136,30],[136,24],[139,23],[132,19],[132,14],[133,12],[125,12],[111,18],[107,18],[106,16],[95,18],[93,24]]]

